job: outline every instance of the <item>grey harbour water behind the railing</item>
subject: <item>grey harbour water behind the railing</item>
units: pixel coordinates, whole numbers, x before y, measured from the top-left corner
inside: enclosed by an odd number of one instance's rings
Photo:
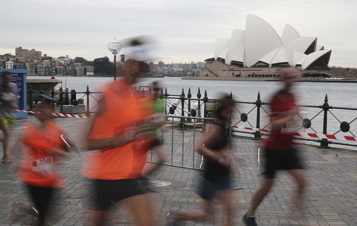
[[[39,76],[28,76],[27,78],[40,78]],[[47,78],[47,77],[41,77]],[[113,78],[110,77],[57,77],[62,80],[62,86],[65,84],[71,89],[75,89],[77,92],[84,92],[89,86],[89,90],[92,92],[98,91],[96,88],[99,84],[112,81]],[[254,102],[257,99],[257,94],[260,92],[260,97],[262,102],[269,102],[271,96],[279,89],[281,86],[280,82],[261,82],[261,81],[209,81],[209,80],[181,80],[181,78],[168,77],[168,78],[140,78],[136,87],[139,88],[140,85],[150,85],[152,82],[158,81],[162,84],[162,87],[167,88],[167,93],[180,95],[182,93],[182,88],[184,89],[185,95],[187,96],[188,88],[191,89],[192,98],[197,97],[198,87],[201,89],[201,95],[203,98],[205,89],[207,90],[207,96],[210,99],[218,98],[221,93],[232,92],[233,98],[239,101]],[[295,91],[298,95],[298,103],[301,105],[322,105],[324,103],[325,95],[328,96],[328,103],[335,107],[350,107],[357,108],[357,92],[356,84],[354,83],[296,83]],[[77,98],[80,98],[77,95]],[[84,97],[85,98],[85,97]],[[177,102],[177,101],[176,101]],[[94,106],[96,100],[91,98],[90,105]],[[193,104],[192,104],[193,105]],[[253,104],[239,104],[237,109],[240,112],[248,113],[254,107]],[[269,113],[269,106],[263,105],[263,108]],[[318,112],[321,111],[320,108],[301,108],[308,113],[307,118],[314,117]],[[342,122],[351,122],[357,117],[357,111],[354,110],[339,110],[332,109],[331,112]],[[203,113],[202,113],[203,116]],[[238,122],[240,114],[236,112],[232,120],[233,124]],[[256,125],[256,109],[248,115],[248,122],[251,123],[253,127]],[[263,128],[268,124],[268,115],[261,109],[261,122],[260,127]],[[248,126],[250,125],[245,122],[240,122],[238,125]],[[316,116],[312,120],[313,129],[317,133],[322,133],[323,128],[323,112]],[[268,127],[267,127],[268,128]],[[327,118],[327,133],[333,134],[340,129],[340,122],[328,113]],[[357,120],[350,124],[350,131],[357,135]],[[311,128],[307,129],[306,132],[314,132]],[[345,136],[352,136],[351,133],[342,133]],[[346,143],[346,141],[343,141]],[[315,142],[316,143],[316,142]],[[356,144],[353,143],[353,144]],[[332,145],[333,146],[333,145]],[[342,146],[346,148],[347,146]]]

